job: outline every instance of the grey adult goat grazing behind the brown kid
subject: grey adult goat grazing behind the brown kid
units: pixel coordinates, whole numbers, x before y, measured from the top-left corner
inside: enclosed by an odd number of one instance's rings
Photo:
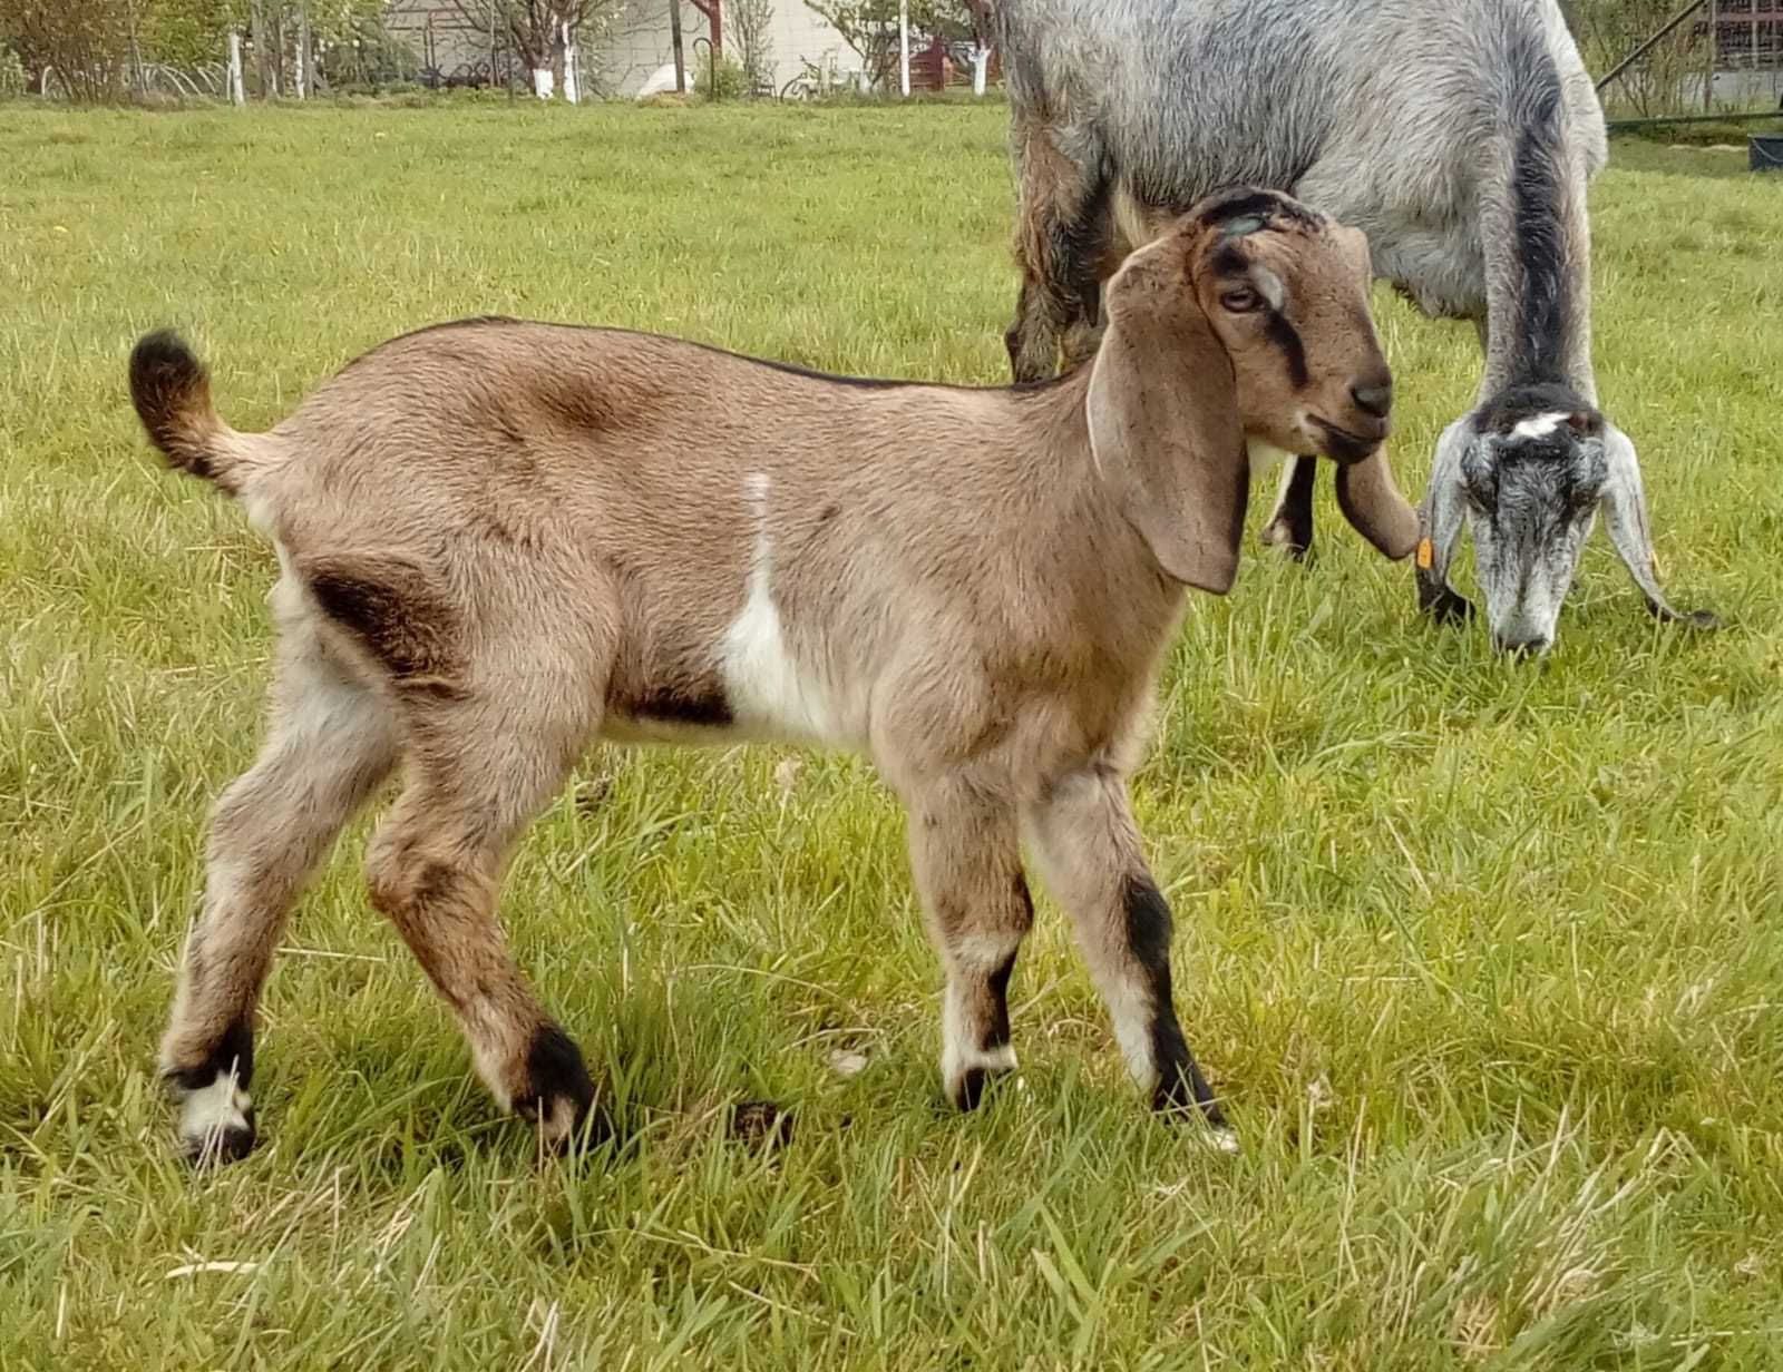
[[[1651,611],[1713,624],[1660,593],[1633,444],[1596,408],[1585,184],[1606,141],[1553,0],[998,0],[995,25],[1018,381],[1050,376],[1061,344],[1068,363],[1095,351],[1100,280],[1179,207],[1228,182],[1289,191],[1485,344],[1476,408],[1437,444],[1419,606],[1473,609],[1448,583],[1466,511],[1494,641],[1548,649],[1601,506]],[[1312,478],[1284,470],[1266,542],[1311,547]]]

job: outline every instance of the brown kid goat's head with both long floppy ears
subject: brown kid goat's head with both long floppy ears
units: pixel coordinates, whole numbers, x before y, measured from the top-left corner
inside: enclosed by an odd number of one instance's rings
[[[1221,191],[1129,257],[1104,301],[1089,437],[1166,572],[1230,586],[1246,440],[1334,458],[1350,522],[1389,556],[1412,551],[1417,517],[1382,454],[1393,374],[1360,232],[1277,191]]]

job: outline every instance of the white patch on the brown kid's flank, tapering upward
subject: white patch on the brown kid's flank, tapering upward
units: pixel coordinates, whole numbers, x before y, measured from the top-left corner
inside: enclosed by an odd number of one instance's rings
[[[774,543],[767,527],[767,472],[751,472],[744,495],[756,520],[749,599],[719,645],[719,666],[731,715],[744,732],[809,743],[840,743],[838,722],[820,686],[799,670],[786,649],[774,604]]]

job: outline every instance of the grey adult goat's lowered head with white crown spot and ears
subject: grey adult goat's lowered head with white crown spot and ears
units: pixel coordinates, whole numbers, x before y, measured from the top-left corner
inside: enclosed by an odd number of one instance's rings
[[[1437,618],[1471,611],[1448,584],[1466,517],[1492,641],[1546,652],[1599,510],[1647,608],[1713,627],[1713,615],[1680,613],[1660,593],[1633,444],[1558,383],[1510,387],[1442,435],[1417,552],[1419,604]]]

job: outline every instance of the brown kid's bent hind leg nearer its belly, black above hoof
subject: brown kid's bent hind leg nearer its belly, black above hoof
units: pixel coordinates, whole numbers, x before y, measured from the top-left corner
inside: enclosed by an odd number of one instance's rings
[[[524,677],[524,674],[522,674]],[[506,688],[408,713],[408,786],[367,859],[389,916],[451,1005],[478,1076],[562,1146],[606,1133],[581,1051],[538,1005],[496,914],[506,857],[562,788],[596,711],[587,681],[540,668]]]

